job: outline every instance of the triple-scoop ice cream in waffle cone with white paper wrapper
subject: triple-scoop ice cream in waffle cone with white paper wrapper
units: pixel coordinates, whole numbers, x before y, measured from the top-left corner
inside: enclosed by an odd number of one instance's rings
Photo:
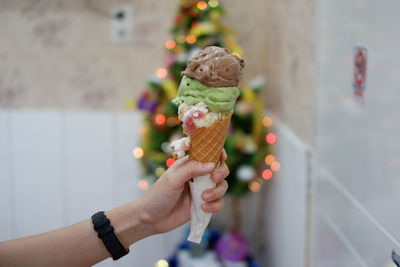
[[[239,96],[238,83],[244,61],[226,48],[209,46],[198,52],[182,72],[178,96],[178,116],[187,135],[171,143],[178,158],[189,152],[191,160],[219,163],[233,108]],[[211,174],[193,177],[190,182],[191,231],[188,240],[201,242],[211,213],[202,210],[201,194],[215,187]]]

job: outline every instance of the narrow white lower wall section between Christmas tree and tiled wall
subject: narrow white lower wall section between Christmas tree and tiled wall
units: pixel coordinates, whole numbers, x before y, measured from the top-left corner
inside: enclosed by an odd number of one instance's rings
[[[276,121],[276,120],[275,120]],[[310,150],[276,121],[281,169],[266,182],[265,262],[271,267],[307,266]]]

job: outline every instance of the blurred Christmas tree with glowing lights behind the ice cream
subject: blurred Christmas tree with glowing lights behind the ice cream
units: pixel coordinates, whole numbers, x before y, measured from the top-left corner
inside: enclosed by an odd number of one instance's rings
[[[182,128],[177,118],[177,107],[171,99],[177,93],[181,71],[188,59],[209,45],[227,47],[233,53],[242,54],[240,46],[232,38],[233,31],[220,21],[223,12],[217,0],[180,2],[171,29],[172,39],[165,42],[165,67],[156,71],[137,103],[138,108],[146,112],[142,144],[133,151],[145,169],[138,184],[143,190],[174,163],[168,145],[181,137]],[[250,86],[241,88],[226,140],[230,169],[227,181],[229,192],[234,195],[243,195],[249,190],[259,191],[262,181],[271,179],[273,172],[279,170],[279,162],[271,153],[271,146],[276,142],[276,135],[269,132],[272,119],[263,117],[262,87],[263,81],[259,78]]]

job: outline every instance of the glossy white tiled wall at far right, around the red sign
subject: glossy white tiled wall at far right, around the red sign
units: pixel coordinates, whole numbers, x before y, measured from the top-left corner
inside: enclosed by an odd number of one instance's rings
[[[318,1],[312,266],[390,266],[400,251],[400,2]],[[353,48],[368,49],[363,101]]]

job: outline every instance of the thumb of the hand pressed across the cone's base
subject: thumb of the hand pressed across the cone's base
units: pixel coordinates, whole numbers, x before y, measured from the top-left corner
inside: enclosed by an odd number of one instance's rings
[[[186,161],[183,164],[172,165],[168,171],[171,171],[169,175],[174,184],[182,186],[193,177],[210,173],[214,168],[215,163],[212,162]]]

